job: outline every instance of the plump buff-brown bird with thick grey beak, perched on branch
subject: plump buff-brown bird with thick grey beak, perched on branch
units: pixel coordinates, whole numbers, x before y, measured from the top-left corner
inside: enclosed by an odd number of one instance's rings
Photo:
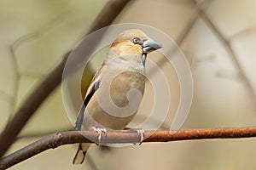
[[[102,136],[99,129],[125,129],[143,99],[147,54],[159,48],[162,48],[160,42],[141,30],[130,29],[119,33],[90,82],[75,129],[93,129],[99,133],[99,140]],[[84,161],[89,147],[90,144],[79,144],[73,164]]]

